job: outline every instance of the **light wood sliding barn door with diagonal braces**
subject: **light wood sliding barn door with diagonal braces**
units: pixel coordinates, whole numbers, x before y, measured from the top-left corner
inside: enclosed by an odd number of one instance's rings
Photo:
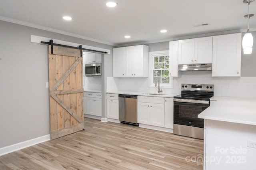
[[[79,49],[49,45],[51,140],[84,129],[82,57]]]

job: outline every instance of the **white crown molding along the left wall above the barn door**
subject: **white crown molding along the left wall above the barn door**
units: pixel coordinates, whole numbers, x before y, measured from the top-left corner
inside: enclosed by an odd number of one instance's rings
[[[14,23],[14,24],[23,25],[23,26],[28,26],[28,27],[32,27],[32,28],[37,28],[37,29],[40,29],[40,30],[55,32],[55,33],[63,34],[63,35],[66,35],[66,36],[72,36],[72,37],[81,38],[81,39],[84,39],[84,40],[103,43],[103,44],[106,44],[106,45],[118,46],[115,43],[104,42],[104,41],[96,40],[96,39],[89,38],[89,37],[86,37],[86,36],[80,36],[78,34],[73,34],[73,33],[70,33],[70,32],[65,32],[65,31],[53,29],[53,28],[50,28],[50,27],[40,26],[40,25],[37,25],[37,24],[32,24],[32,23],[24,22],[24,21],[20,21],[20,20],[14,20],[12,18],[7,18],[7,17],[4,17],[4,16],[0,16],[0,20],[6,21],[6,22],[11,22],[11,23]]]

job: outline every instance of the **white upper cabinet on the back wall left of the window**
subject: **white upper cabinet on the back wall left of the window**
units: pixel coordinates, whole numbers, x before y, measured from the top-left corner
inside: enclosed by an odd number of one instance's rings
[[[114,48],[113,77],[148,77],[148,46]]]

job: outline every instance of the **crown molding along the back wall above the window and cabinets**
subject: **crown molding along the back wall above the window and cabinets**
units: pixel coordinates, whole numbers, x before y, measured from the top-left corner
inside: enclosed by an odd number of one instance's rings
[[[256,28],[250,28],[250,32],[252,32],[252,31],[256,31]],[[184,39],[200,38],[200,37],[208,37],[208,36],[219,36],[219,35],[224,35],[224,34],[234,34],[234,33],[240,33],[240,32],[247,32],[247,29],[230,30],[230,31],[222,31],[222,32],[212,32],[212,33],[206,33],[206,34],[196,34],[196,35],[192,35],[192,36],[181,36],[181,37],[174,37],[174,38],[168,38],[168,39],[163,39],[163,40],[155,40],[155,41],[125,43],[125,44],[120,44],[118,47],[125,47],[125,46],[131,46],[131,45],[140,45],[140,44],[149,44],[149,43],[170,42],[170,41],[176,41],[176,40],[184,40]]]

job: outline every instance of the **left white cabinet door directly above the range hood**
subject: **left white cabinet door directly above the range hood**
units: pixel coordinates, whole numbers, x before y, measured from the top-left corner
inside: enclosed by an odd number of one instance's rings
[[[178,41],[178,64],[194,63],[194,39]]]

